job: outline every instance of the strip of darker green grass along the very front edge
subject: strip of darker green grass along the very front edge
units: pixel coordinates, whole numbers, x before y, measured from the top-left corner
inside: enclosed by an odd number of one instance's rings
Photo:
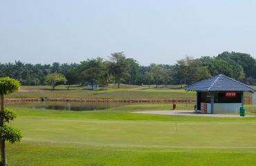
[[[11,145],[12,165],[254,165],[254,149],[113,149]],[[33,152],[33,153],[31,153]],[[27,158],[27,160],[24,160]],[[42,160],[44,160],[42,162]]]

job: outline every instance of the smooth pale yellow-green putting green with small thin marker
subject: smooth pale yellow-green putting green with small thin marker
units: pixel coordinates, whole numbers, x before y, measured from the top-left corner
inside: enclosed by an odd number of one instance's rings
[[[152,122],[21,117],[23,141],[111,147],[256,148],[255,122]]]

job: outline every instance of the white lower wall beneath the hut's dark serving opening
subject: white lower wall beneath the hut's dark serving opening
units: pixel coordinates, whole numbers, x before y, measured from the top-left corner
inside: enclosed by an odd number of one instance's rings
[[[214,113],[239,113],[241,103],[214,103]]]

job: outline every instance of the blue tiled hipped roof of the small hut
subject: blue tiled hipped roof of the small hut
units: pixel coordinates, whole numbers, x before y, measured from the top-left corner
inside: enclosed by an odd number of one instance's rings
[[[201,82],[197,82],[185,88],[187,91],[250,91],[256,90],[252,87],[238,82],[226,75],[215,75]]]

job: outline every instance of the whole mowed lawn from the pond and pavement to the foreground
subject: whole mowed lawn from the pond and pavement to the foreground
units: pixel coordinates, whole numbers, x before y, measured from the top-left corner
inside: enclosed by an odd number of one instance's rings
[[[255,165],[256,118],[136,114],[170,104],[104,111],[30,109],[8,104],[24,138],[7,146],[12,165]],[[178,104],[192,109],[193,104]]]

